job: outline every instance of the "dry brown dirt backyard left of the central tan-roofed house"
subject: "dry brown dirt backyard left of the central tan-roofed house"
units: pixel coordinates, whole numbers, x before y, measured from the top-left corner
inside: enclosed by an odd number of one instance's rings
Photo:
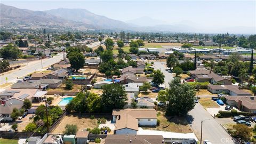
[[[52,133],[62,133],[65,130],[65,126],[67,124],[76,124],[78,127],[78,131],[82,131],[84,129],[90,128],[93,129],[94,127],[98,127],[99,124],[97,123],[97,118],[105,117],[106,119],[110,119],[110,115],[94,115],[94,119],[90,119],[90,115],[67,115],[65,116],[60,124],[55,128]]]

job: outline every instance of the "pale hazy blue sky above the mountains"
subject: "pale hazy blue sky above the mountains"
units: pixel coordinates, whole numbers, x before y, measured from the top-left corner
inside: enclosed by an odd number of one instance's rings
[[[209,27],[255,27],[256,1],[1,1],[29,10],[86,9],[127,21],[140,17]]]

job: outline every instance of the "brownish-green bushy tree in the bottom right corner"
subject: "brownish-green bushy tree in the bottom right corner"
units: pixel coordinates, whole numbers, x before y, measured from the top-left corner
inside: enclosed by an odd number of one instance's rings
[[[234,132],[231,135],[234,138],[240,138],[244,141],[250,140],[252,136],[252,129],[246,126],[245,124],[236,124],[233,126]]]

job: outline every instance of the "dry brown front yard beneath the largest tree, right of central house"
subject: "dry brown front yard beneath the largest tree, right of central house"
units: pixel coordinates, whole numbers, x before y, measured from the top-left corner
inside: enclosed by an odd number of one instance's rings
[[[172,117],[172,118],[167,117],[166,118],[163,116],[163,114],[160,114],[160,115],[157,114],[157,119],[160,120],[160,125],[154,128],[146,128],[146,130],[158,130],[158,131],[169,131],[169,132],[179,132],[179,133],[193,132],[190,129],[185,117]],[[168,119],[170,119],[170,121],[168,121]]]

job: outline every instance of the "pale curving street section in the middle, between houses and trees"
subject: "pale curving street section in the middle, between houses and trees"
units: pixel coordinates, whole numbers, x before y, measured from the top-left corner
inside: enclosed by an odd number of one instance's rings
[[[155,66],[155,69],[160,69],[163,72],[163,74],[165,75],[164,84],[166,87],[169,87],[169,82],[172,81],[173,75],[172,75],[172,73],[168,73],[165,63],[166,62],[155,61],[154,66]]]

